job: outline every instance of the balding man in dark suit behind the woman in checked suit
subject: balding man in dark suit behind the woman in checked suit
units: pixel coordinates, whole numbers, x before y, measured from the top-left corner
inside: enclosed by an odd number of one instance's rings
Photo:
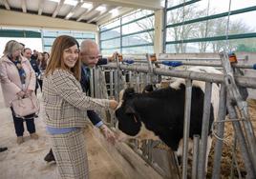
[[[96,65],[107,64],[107,59],[99,59],[99,50],[96,43],[92,40],[84,40],[80,46],[80,57],[82,61],[81,67],[81,80],[80,84],[84,92],[88,95],[91,95],[90,91],[90,69],[95,68]],[[90,121],[103,133],[107,141],[111,143],[116,142],[116,137],[114,133],[104,125],[98,114],[95,110],[87,110],[87,116]],[[45,161],[51,162],[54,161],[53,151],[45,156]]]

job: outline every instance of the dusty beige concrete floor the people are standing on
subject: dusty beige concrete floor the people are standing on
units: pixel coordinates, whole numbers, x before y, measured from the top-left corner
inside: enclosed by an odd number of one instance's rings
[[[41,94],[38,95],[39,98],[40,96]],[[0,91],[0,121],[0,146],[9,148],[0,153],[1,179],[58,178],[56,165],[43,160],[51,145],[41,113],[35,119],[39,139],[32,140],[29,132],[25,129],[25,142],[21,145],[16,144],[11,111],[4,108],[2,91]],[[127,178],[108,151],[99,143],[92,130],[93,128],[90,128],[86,132],[90,178]]]

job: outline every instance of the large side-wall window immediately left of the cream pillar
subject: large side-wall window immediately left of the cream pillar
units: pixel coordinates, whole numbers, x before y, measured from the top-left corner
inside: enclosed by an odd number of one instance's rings
[[[155,16],[152,10],[137,10],[100,27],[103,55],[118,51],[125,54],[152,53]]]

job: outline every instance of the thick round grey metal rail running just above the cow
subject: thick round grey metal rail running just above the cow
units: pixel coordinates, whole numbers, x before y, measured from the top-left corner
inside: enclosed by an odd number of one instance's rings
[[[117,69],[117,64],[108,64],[102,66],[103,68]],[[121,70],[132,70],[138,72],[148,72],[147,67],[135,67],[120,65]],[[223,83],[224,75],[215,74],[215,73],[203,73],[190,70],[165,70],[165,69],[153,69],[154,74],[160,74],[164,76],[172,76],[178,78],[189,78],[192,80],[199,80],[211,83]],[[244,76],[235,76],[236,83],[242,87],[256,89],[256,78],[255,77],[244,77]]]

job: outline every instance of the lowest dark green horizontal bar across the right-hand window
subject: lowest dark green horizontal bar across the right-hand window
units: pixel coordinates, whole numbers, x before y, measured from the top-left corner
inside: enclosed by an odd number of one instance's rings
[[[214,36],[214,37],[205,37],[205,38],[194,38],[194,39],[184,39],[176,41],[167,41],[166,44],[181,44],[181,43],[192,43],[192,42],[207,42],[207,41],[218,41],[218,40],[232,40],[232,39],[242,39],[242,38],[253,38],[256,37],[255,33],[243,33],[243,34],[232,34],[232,35],[223,35],[223,36]]]

